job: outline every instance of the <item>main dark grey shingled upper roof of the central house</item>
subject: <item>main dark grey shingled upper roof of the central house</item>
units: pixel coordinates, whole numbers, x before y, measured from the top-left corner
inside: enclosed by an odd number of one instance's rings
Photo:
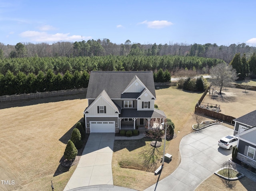
[[[92,71],[86,98],[95,99],[103,90],[111,99],[137,98],[135,93],[122,93],[135,80],[139,80],[156,97],[152,71]]]

